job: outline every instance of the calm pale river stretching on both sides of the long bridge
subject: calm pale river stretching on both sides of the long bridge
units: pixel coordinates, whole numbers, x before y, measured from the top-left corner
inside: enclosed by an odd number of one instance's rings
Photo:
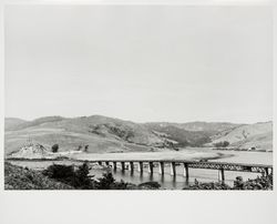
[[[220,153],[220,156],[216,156]],[[82,155],[78,155],[81,156]],[[209,161],[218,161],[218,162],[233,162],[233,163],[248,163],[248,164],[273,164],[273,153],[269,152],[239,152],[239,151],[214,151],[212,149],[184,149],[181,152],[152,152],[152,153],[120,153],[120,154],[90,154],[91,159],[100,160],[100,159],[109,159],[116,157],[117,159],[201,159],[208,157]],[[89,156],[89,159],[90,159]],[[78,159],[78,157],[74,157]],[[88,159],[88,154],[86,154]],[[47,166],[53,163],[63,163],[63,164],[72,164],[72,161],[12,161],[13,164],[28,166],[30,169],[45,169]],[[74,162],[75,164],[81,164],[81,162]],[[113,171],[114,177],[120,181],[123,180],[125,182],[140,184],[148,181],[156,181],[161,184],[162,189],[183,189],[189,183],[193,183],[195,179],[201,182],[217,182],[219,179],[219,171],[217,170],[203,170],[203,169],[189,169],[189,180],[186,182],[185,176],[183,175],[184,169],[182,165],[176,166],[176,176],[172,176],[170,174],[170,166],[165,166],[164,175],[158,174],[158,167],[154,167],[154,173],[151,175],[147,172],[147,169],[144,169],[143,174],[138,173],[135,169],[133,173],[129,170],[124,172],[121,169]],[[106,169],[92,169],[91,173],[95,175],[95,177],[102,176],[103,172],[106,172]],[[225,171],[225,180],[226,183],[233,185],[236,176],[243,176],[244,180],[255,179],[257,173],[246,173],[246,172],[233,172]]]

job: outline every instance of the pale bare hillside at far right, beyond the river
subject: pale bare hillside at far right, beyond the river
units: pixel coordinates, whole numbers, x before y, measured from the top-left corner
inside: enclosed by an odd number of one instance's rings
[[[237,149],[273,150],[273,122],[245,124],[212,136],[212,144],[227,141]]]

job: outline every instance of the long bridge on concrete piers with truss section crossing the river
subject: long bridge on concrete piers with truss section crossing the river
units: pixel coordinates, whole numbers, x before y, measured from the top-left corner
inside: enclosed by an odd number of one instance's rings
[[[226,163],[226,162],[202,162],[202,161],[184,161],[184,160],[101,160],[101,161],[86,161],[90,163],[98,163],[99,165],[110,166],[114,170],[120,167],[123,172],[130,170],[131,173],[134,172],[135,164],[140,173],[147,170],[150,174],[153,174],[154,167],[158,166],[158,173],[164,175],[164,166],[171,166],[171,175],[176,175],[176,165],[183,166],[183,175],[188,180],[189,169],[208,169],[220,171],[220,180],[225,181],[225,171],[235,172],[252,172],[261,173],[263,175],[268,175],[273,173],[273,165],[263,164],[246,164],[246,163]]]

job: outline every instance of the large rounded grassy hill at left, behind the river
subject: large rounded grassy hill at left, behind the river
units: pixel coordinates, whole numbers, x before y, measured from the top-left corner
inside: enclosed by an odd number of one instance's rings
[[[19,150],[29,139],[48,149],[58,143],[61,151],[89,145],[89,152],[150,151],[150,146],[164,142],[145,126],[119,119],[49,116],[6,130],[6,154]]]

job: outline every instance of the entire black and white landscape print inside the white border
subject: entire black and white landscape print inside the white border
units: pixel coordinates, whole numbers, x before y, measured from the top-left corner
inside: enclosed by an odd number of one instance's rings
[[[273,40],[267,6],[6,6],[4,191],[273,191]]]

